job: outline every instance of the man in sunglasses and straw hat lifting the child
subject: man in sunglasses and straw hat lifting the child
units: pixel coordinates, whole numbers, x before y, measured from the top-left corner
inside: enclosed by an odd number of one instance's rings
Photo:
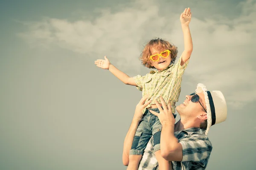
[[[125,137],[123,164],[129,163],[129,151],[136,129],[142,119],[142,110],[148,105],[147,96],[143,97],[136,107],[134,118]],[[207,167],[212,144],[207,137],[209,127],[227,118],[227,104],[221,91],[207,91],[199,83],[196,94],[187,95],[183,104],[176,107],[180,120],[175,124],[170,105],[162,107],[157,103],[160,113],[150,111],[158,116],[162,129],[160,152],[169,161],[173,170],[204,170]],[[202,133],[200,132],[202,130]],[[158,163],[153,152],[153,138],[147,144],[139,170],[158,170]]]

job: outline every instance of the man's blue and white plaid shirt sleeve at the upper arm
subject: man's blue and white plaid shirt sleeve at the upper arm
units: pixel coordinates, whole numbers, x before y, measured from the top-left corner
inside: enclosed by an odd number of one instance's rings
[[[197,137],[189,137],[180,140],[182,145],[182,161],[193,161],[207,164],[208,158],[212,151],[212,144],[208,138],[200,139]]]

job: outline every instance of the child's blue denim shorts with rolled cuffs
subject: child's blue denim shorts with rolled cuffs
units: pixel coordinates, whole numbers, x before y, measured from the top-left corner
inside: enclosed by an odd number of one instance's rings
[[[132,142],[130,155],[143,155],[149,139],[153,136],[154,152],[160,150],[160,136],[162,125],[157,116],[149,112],[149,110],[159,113],[158,108],[146,109],[142,120]],[[174,118],[176,114],[173,114]]]

